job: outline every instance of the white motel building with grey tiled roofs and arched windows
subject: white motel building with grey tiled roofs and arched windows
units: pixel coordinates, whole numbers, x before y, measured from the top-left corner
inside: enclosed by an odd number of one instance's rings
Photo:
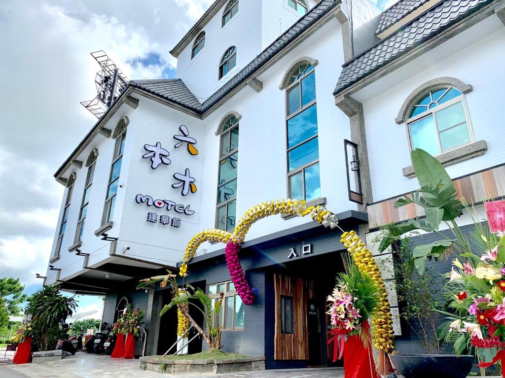
[[[106,321],[139,305],[147,353],[163,353],[175,340],[173,315],[158,317],[169,294],[135,291],[136,282],[175,268],[197,231],[232,229],[248,208],[292,197],[325,203],[370,241],[380,225],[423,215],[392,206],[418,187],[412,147],[465,176],[456,182],[467,200],[505,195],[505,152],[493,137],[503,130],[503,7],[400,0],[381,14],[360,0],[350,32],[337,0],[217,0],[171,51],[178,79],[131,81],[55,174],[67,189],[45,283],[106,294]],[[267,368],[327,364],[324,298],[342,268],[331,253],[338,240],[305,218],[255,224],[241,253],[256,302],[227,291],[226,350],[264,355]],[[303,245],[312,253],[289,257]],[[219,292],[223,261],[222,245],[203,244],[188,280]],[[315,307],[292,313],[301,328],[290,332],[274,326],[279,276],[323,293],[283,294]],[[280,334],[295,343],[299,333],[309,337],[283,354]]]

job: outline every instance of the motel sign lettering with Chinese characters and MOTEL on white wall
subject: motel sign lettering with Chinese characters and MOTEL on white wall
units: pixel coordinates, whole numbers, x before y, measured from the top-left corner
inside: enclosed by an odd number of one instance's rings
[[[179,126],[180,134],[175,134],[173,138],[176,140],[174,144],[174,148],[179,148],[182,145],[186,144],[187,151],[189,155],[195,156],[198,154],[198,150],[194,146],[196,144],[196,139],[192,138],[189,135],[189,130],[185,125]],[[147,153],[142,155],[143,159],[149,159],[150,168],[152,170],[156,170],[161,166],[170,166],[172,164],[172,160],[170,159],[170,151],[166,148],[163,148],[161,142],[156,142],[155,144],[144,144],[144,150]],[[174,152],[174,151],[172,151]],[[180,167],[180,166],[179,166]],[[179,168],[180,169],[180,168]],[[177,169],[177,171],[179,171]],[[175,180],[167,182],[167,187],[171,187],[173,189],[180,190],[180,195],[185,197],[188,194],[196,193],[196,179],[191,176],[189,168],[182,167],[183,172],[173,172],[172,177]],[[163,169],[162,169],[163,170]],[[158,172],[158,171],[157,171]],[[160,171],[161,172],[161,171]],[[170,177],[170,176],[169,176]],[[135,196],[135,202],[137,204],[145,204],[146,206],[154,206],[158,209],[165,209],[166,211],[173,211],[182,215],[193,215],[195,213],[194,210],[191,209],[190,204],[182,204],[177,203],[176,201],[172,201],[169,199],[154,199],[149,195],[137,194]],[[181,227],[182,220],[176,216],[176,214],[160,214],[154,211],[147,212],[146,222],[148,223],[159,223],[162,226],[179,228]]]

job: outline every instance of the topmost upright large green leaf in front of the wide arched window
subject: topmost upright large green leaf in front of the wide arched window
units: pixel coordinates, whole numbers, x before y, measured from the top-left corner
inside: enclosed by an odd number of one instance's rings
[[[452,181],[440,161],[428,152],[416,148],[411,151],[411,157],[419,186],[436,187],[439,184],[444,188],[452,186]]]

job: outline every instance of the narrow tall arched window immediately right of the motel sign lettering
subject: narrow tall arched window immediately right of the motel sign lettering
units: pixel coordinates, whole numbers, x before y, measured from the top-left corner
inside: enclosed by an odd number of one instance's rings
[[[237,205],[238,119],[230,115],[220,129],[216,228],[233,230]]]

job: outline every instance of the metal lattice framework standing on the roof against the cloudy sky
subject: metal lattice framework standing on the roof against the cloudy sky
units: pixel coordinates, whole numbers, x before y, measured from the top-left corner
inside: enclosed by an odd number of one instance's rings
[[[96,118],[100,118],[121,95],[128,84],[128,79],[104,50],[91,52],[91,56],[102,69],[95,77],[96,97],[82,101],[81,105]]]

